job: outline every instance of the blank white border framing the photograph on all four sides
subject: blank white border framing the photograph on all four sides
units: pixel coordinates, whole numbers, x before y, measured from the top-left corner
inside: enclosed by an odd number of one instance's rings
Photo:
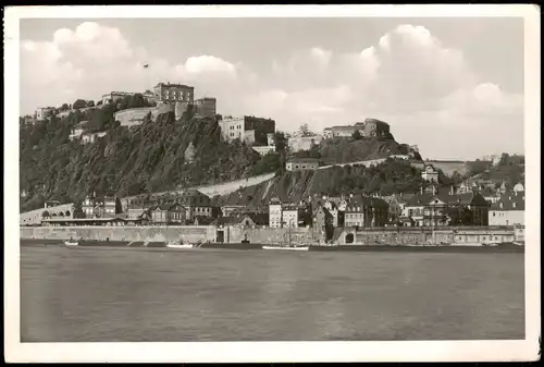
[[[540,12],[536,5],[9,7],[4,16],[4,212],[18,212],[18,22],[94,17],[520,16],[524,19],[526,340],[20,343],[18,218],[4,216],[7,362],[521,362],[539,358]],[[9,210],[8,210],[9,209]],[[15,211],[16,209],[16,211]],[[8,245],[9,244],[9,245]]]

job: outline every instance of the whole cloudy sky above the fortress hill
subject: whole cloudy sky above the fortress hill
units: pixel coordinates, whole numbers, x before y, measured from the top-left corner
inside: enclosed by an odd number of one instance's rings
[[[423,158],[524,151],[521,17],[26,19],[20,36],[21,114],[175,82],[286,132],[374,118]]]

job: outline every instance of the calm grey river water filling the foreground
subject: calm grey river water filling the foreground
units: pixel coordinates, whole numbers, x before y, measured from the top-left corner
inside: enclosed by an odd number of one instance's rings
[[[21,247],[22,342],[524,338],[523,254]]]

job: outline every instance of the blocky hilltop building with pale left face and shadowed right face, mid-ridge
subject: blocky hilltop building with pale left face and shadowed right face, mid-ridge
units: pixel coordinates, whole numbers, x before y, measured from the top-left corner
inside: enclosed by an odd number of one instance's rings
[[[246,144],[268,145],[268,134],[275,132],[275,121],[245,115],[223,119],[219,122],[225,140],[240,139]]]

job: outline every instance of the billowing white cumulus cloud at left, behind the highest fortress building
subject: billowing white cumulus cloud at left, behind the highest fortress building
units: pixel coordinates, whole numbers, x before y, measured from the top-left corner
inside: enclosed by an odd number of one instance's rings
[[[237,78],[237,65],[228,61],[207,54],[158,58],[131,45],[118,28],[94,22],[58,29],[49,41],[24,40],[21,46],[23,113],[77,98],[97,100],[111,90],[144,91],[158,81],[197,81],[213,93]]]

